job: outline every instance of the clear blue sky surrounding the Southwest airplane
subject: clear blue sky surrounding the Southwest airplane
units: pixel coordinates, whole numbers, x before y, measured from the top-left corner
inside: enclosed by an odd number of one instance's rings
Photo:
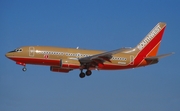
[[[119,0],[1,0],[1,111],[179,111],[180,2]],[[119,71],[54,73],[46,66],[22,66],[6,52],[45,45],[114,50],[133,47],[166,22],[158,64]]]

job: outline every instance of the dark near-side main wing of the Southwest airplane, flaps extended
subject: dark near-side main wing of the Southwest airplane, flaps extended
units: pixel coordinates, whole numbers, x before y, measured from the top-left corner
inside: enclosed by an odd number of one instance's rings
[[[117,49],[113,51],[103,52],[100,54],[95,54],[89,57],[83,57],[79,59],[79,62],[81,64],[87,64],[87,63],[101,63],[103,64],[105,61],[111,62],[110,59],[112,58],[112,55],[117,54],[121,52],[123,49]]]

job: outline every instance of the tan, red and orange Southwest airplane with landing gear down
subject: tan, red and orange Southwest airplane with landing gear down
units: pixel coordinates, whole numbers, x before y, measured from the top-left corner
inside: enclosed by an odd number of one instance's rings
[[[85,50],[50,46],[24,46],[6,53],[6,57],[22,65],[50,66],[50,71],[68,73],[79,69],[80,78],[90,76],[92,70],[122,70],[156,64],[159,59],[173,53],[157,55],[166,23],[159,22],[145,38],[133,48],[112,51]],[[83,70],[86,70],[84,73]]]

